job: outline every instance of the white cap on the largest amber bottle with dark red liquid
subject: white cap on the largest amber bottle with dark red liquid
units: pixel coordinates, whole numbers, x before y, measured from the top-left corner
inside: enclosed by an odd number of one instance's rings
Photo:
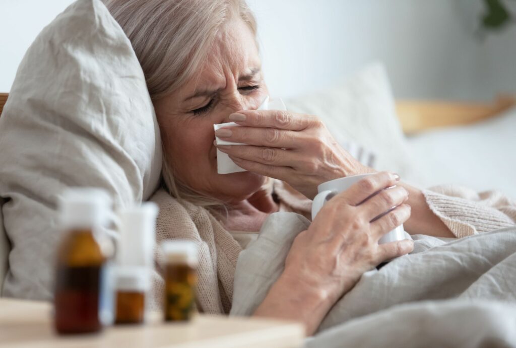
[[[98,188],[68,188],[58,202],[61,227],[92,228],[105,226],[111,211],[109,194]]]

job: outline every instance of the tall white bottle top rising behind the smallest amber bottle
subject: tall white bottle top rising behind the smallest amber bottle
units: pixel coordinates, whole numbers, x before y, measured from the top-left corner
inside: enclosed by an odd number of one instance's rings
[[[117,261],[122,267],[154,267],[158,206],[152,202],[120,209]]]

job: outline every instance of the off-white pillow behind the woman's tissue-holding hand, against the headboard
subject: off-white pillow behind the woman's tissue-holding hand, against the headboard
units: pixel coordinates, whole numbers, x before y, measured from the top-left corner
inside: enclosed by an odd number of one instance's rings
[[[396,115],[389,78],[372,64],[342,86],[285,102],[287,109],[317,115],[340,144],[356,142],[376,155],[375,169],[420,180]]]

